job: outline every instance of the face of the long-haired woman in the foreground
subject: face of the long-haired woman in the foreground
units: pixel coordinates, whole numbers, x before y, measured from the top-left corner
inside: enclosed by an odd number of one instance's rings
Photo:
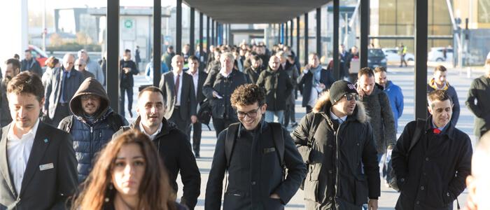
[[[121,147],[112,172],[112,183],[118,193],[138,196],[141,179],[145,174],[146,160],[138,144]]]

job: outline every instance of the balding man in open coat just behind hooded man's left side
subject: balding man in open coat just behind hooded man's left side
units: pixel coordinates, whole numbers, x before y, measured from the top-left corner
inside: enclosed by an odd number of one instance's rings
[[[50,78],[45,83],[45,103],[43,113],[48,116],[50,123],[57,126],[59,121],[69,116],[68,105],[78,87],[83,83],[83,75],[73,70],[75,57],[66,53],[61,68],[53,69]]]

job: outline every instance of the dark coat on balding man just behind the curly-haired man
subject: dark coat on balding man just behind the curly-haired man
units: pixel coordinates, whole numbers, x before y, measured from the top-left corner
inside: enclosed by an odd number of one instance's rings
[[[257,85],[265,88],[267,111],[286,110],[286,99],[293,90],[293,83],[281,66],[276,71],[267,67],[260,73]]]

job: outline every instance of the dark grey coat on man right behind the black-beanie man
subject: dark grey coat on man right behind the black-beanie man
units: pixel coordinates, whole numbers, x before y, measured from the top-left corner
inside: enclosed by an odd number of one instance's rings
[[[369,123],[379,154],[386,153],[386,148],[393,148],[396,144],[395,119],[388,94],[382,88],[378,84],[374,85],[372,93],[364,94],[362,99],[367,115],[370,116]]]

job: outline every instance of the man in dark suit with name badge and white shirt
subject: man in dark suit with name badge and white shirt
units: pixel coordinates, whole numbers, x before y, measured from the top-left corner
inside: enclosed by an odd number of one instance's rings
[[[69,134],[39,120],[41,78],[15,76],[7,87],[13,123],[0,139],[0,209],[65,209],[77,187],[76,158]]]

